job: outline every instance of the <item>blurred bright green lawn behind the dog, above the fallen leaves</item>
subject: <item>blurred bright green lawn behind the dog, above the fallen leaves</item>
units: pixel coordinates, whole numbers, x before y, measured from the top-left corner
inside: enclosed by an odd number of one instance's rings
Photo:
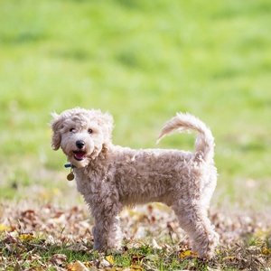
[[[216,138],[214,206],[271,203],[269,0],[1,0],[1,201],[81,201],[50,112],[100,108],[113,142],[154,148],[190,112]],[[194,136],[159,144],[192,150]]]

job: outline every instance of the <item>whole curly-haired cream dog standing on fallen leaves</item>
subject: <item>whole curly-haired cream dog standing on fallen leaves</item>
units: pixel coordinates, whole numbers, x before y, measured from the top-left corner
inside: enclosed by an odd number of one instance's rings
[[[113,117],[100,110],[76,107],[52,116],[52,148],[61,147],[75,166],[78,191],[95,219],[94,249],[121,247],[118,214],[124,206],[159,201],[172,206],[192,249],[200,257],[211,257],[219,238],[207,210],[217,170],[214,139],[201,120],[179,113],[158,137],[159,142],[175,131],[196,130],[195,152],[190,153],[113,145]]]

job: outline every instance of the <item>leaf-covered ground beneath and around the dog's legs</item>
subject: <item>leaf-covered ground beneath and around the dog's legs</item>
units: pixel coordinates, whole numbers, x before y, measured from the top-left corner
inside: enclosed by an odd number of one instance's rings
[[[270,270],[270,214],[210,211],[220,234],[211,260],[190,248],[169,208],[149,204],[121,213],[123,251],[93,251],[88,210],[46,204],[33,208],[1,206],[4,230],[0,242],[3,270]],[[73,268],[73,269],[72,269]],[[89,270],[86,269],[86,270]],[[2,269],[1,269],[2,270]]]

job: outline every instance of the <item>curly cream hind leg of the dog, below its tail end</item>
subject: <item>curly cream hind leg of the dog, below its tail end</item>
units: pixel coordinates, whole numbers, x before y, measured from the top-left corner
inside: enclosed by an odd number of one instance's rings
[[[180,226],[192,239],[192,250],[199,257],[212,257],[218,245],[219,235],[207,217],[207,210],[200,204],[173,204]]]

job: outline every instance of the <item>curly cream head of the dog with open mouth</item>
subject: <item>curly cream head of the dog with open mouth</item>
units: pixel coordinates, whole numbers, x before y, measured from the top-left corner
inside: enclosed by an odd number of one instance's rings
[[[88,165],[111,144],[113,117],[109,113],[76,107],[51,115],[51,147],[55,151],[61,147],[68,161],[77,167]]]

